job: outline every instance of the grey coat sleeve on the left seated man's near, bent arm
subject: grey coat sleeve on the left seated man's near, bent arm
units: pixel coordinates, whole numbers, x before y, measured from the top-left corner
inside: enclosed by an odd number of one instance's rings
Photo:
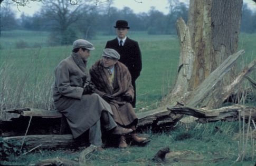
[[[67,64],[60,64],[55,70],[56,86],[61,95],[75,99],[81,99],[83,88],[70,86],[70,71]]]

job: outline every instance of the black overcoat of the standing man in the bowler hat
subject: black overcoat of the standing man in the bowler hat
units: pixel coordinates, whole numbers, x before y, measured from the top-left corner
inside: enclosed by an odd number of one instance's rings
[[[131,85],[134,87],[135,98],[132,105],[136,103],[136,84],[135,81],[140,75],[142,69],[141,51],[138,42],[130,38],[126,38],[124,46],[119,46],[118,39],[109,40],[105,48],[115,49],[120,54],[119,61],[129,69],[131,74]]]

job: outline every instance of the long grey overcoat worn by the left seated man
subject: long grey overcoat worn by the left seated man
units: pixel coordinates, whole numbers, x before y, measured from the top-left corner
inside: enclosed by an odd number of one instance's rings
[[[98,94],[82,95],[83,86],[89,81],[86,62],[77,53],[72,52],[55,69],[54,106],[67,118],[74,138],[93,126],[102,110],[112,114],[110,105]]]

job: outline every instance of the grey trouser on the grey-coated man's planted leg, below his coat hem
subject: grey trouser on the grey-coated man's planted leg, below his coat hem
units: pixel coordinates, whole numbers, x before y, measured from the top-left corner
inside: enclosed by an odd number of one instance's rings
[[[89,141],[91,144],[97,147],[102,146],[101,140],[101,130],[100,130],[100,120],[98,120],[92,127],[89,129]]]

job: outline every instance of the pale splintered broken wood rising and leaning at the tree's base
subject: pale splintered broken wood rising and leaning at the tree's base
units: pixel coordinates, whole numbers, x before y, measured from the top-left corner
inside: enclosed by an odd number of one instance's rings
[[[249,74],[255,66],[255,60],[245,67],[241,73],[230,85],[220,86],[220,82],[229,73],[235,65],[236,60],[244,54],[244,50],[238,51],[230,55],[223,63],[219,65],[211,74],[209,74],[202,83],[195,89],[189,87],[189,82],[192,78],[192,70],[194,68],[194,50],[191,43],[191,35],[189,28],[186,26],[184,20],[179,18],[177,20],[177,33],[179,43],[181,46],[181,55],[178,66],[177,79],[172,92],[163,101],[164,105],[170,107],[175,106],[177,102],[183,103],[191,107],[207,107],[208,109],[215,109],[220,103],[223,103],[229,96],[235,94],[238,86],[244,80],[246,74]],[[193,91],[192,91],[193,90]],[[223,92],[219,94],[219,91]],[[218,97],[216,97],[218,96]]]

